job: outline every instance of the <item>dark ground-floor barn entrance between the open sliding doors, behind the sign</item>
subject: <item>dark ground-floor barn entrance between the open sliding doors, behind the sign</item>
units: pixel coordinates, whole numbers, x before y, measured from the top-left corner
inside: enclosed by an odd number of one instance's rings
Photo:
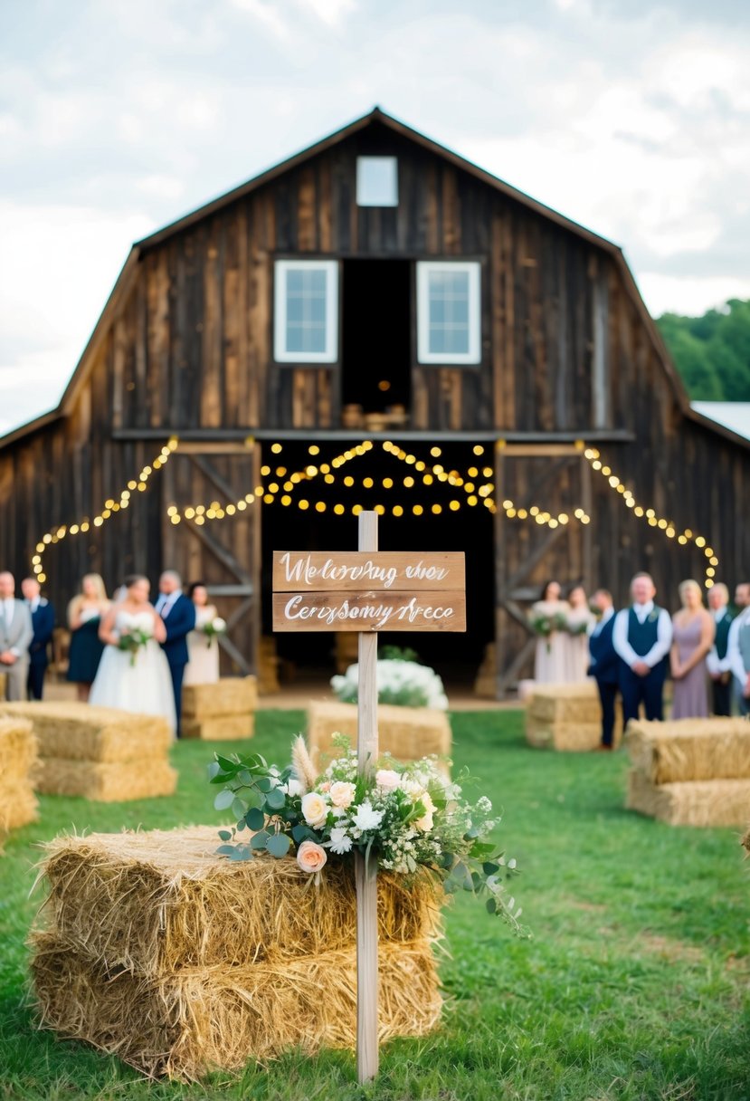
[[[441,482],[429,475],[429,467],[441,465],[445,471],[455,469],[465,477],[467,471],[462,470],[461,465],[466,467],[466,455],[471,455],[471,446],[465,443],[456,445],[455,454],[452,454],[450,445],[445,445],[440,457],[431,457],[429,446],[415,445],[417,461],[421,459],[428,468],[418,471],[415,464],[408,465],[397,459],[385,451],[379,443],[374,443],[364,456],[331,470],[335,478],[333,482],[326,482],[326,476],[318,472],[295,484],[294,491],[286,494],[290,503],[280,503],[285,495],[283,482],[293,471],[304,470],[306,467],[313,467],[319,471],[321,464],[330,464],[333,457],[359,443],[361,440],[353,440],[351,444],[321,443],[320,454],[315,456],[309,454],[305,445],[285,443],[283,451],[276,456],[269,456],[268,449],[264,448],[263,461],[272,470],[265,481],[274,479],[282,493],[278,498],[275,497],[273,503],[263,506],[263,634],[272,633],[273,552],[356,549],[357,523],[352,508],[361,504],[373,509],[380,504],[386,510],[378,520],[382,550],[427,552],[439,548],[465,553],[467,625],[465,635],[440,632],[383,633],[382,643],[409,646],[423,663],[435,668],[443,680],[470,685],[476,676],[486,644],[494,639],[494,517],[482,503],[473,506],[467,504],[467,498],[472,494],[463,487]],[[284,473],[276,476],[278,469]],[[424,475],[432,477],[431,484],[424,484]],[[346,484],[346,479],[351,479],[352,483]],[[372,484],[368,484],[371,480]],[[412,484],[409,483],[410,480]],[[307,501],[307,508],[300,509],[299,503],[304,501]],[[451,501],[459,501],[460,508],[451,510]],[[337,505],[340,509],[343,506],[345,511],[337,514]],[[421,514],[415,515],[415,506],[421,508]],[[402,514],[394,515],[394,509],[399,508]],[[275,640],[278,656],[294,663],[301,675],[316,675],[324,679],[335,672],[332,635],[289,633],[277,634]]]

